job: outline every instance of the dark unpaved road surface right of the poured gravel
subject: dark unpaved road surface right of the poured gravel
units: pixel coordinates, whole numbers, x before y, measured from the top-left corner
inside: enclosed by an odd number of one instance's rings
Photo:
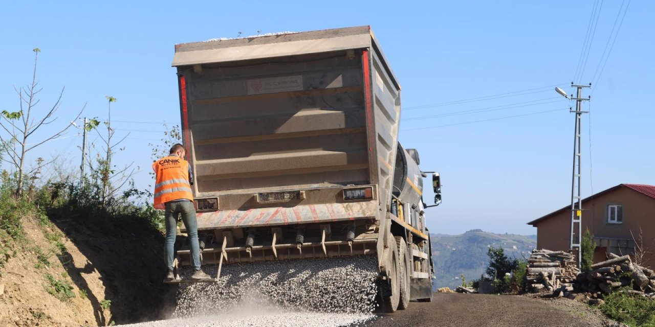
[[[383,315],[367,327],[449,326],[612,326],[583,303],[523,296],[435,293],[431,303],[412,302],[407,310]]]

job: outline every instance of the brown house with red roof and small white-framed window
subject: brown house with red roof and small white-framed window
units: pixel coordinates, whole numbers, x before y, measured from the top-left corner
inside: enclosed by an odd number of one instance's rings
[[[528,224],[537,229],[538,249],[569,249],[571,205]],[[587,229],[594,235],[594,262],[607,260],[608,253],[633,254],[636,245],[646,251],[643,264],[654,267],[655,186],[619,184],[583,199],[582,233]]]

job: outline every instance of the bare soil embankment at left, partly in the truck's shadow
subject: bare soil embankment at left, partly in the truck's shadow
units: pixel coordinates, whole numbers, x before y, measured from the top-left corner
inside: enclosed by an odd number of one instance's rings
[[[169,316],[161,235],[93,232],[68,219],[23,220],[1,269],[0,326],[107,326]],[[138,235],[138,236],[137,236]]]

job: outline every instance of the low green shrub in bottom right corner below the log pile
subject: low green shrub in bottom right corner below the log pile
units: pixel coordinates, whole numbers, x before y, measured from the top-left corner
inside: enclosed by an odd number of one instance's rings
[[[631,327],[655,327],[655,301],[626,292],[605,297],[601,311],[608,317]]]

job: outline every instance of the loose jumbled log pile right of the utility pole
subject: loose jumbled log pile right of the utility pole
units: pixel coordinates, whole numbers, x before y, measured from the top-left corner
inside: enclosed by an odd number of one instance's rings
[[[631,262],[630,256],[609,254],[609,258],[578,274],[576,283],[582,290],[599,296],[632,285],[631,290],[623,291],[655,298],[655,271]]]

